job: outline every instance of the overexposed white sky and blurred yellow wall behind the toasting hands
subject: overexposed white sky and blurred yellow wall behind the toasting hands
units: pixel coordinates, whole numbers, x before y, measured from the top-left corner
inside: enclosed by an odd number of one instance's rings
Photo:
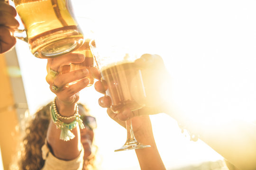
[[[161,55],[172,76],[173,98],[187,114],[198,119],[219,114],[223,119],[256,120],[256,1],[72,3],[78,22],[88,23],[82,29],[93,33],[88,36],[128,46],[138,54]],[[0,165],[5,170],[15,153],[18,129],[24,126],[20,121],[55,97],[45,80],[46,63],[19,40],[12,51],[0,55]],[[94,142],[101,170],[139,170],[134,151],[114,152],[125,143],[126,130],[98,105],[100,97],[93,85],[80,94],[80,102],[97,119]],[[150,118],[167,170],[226,170],[218,153],[201,140],[190,141],[170,116],[161,113]]]

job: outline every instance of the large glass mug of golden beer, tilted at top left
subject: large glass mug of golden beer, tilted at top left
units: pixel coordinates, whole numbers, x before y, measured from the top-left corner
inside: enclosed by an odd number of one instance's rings
[[[14,0],[31,52],[50,58],[75,50],[83,42],[70,0]]]

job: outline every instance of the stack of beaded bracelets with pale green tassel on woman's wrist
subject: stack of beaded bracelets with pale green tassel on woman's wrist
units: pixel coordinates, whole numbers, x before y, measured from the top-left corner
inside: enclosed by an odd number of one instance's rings
[[[55,98],[55,100],[56,100],[56,98]],[[50,106],[51,118],[53,119],[53,121],[56,125],[56,128],[61,129],[60,139],[64,140],[64,141],[69,141],[70,139],[73,139],[75,137],[74,134],[70,130],[72,130],[74,127],[76,127],[77,123],[81,129],[84,128],[82,119],[80,119],[80,115],[78,113],[78,105],[77,104],[75,105],[75,107],[76,107],[75,114],[74,114],[75,119],[71,123],[64,123],[63,121],[61,121],[59,119],[62,116],[57,112],[55,100],[53,101],[52,105]],[[57,116],[57,115],[59,115],[59,116]],[[71,117],[73,117],[73,116],[71,116]],[[70,117],[63,117],[63,118],[70,118]],[[72,118],[70,118],[70,119],[72,119]]]

